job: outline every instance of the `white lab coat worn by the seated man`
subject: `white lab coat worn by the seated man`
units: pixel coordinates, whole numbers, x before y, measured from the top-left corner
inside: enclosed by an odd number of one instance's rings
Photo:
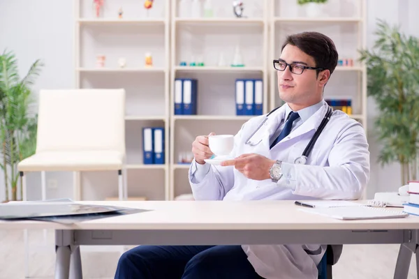
[[[369,181],[369,151],[365,130],[358,121],[344,112],[334,111],[329,123],[318,137],[309,154],[306,165],[295,165],[325,116],[328,105],[323,105],[307,121],[293,130],[276,146],[270,149],[270,138],[285,117],[286,106],[273,112],[252,142],[244,144],[264,116],[256,116],[244,123],[235,135],[232,156],[258,153],[272,160],[283,161],[288,172],[278,183],[270,179],[256,181],[247,179],[233,166],[211,165],[202,181],[194,181],[196,164],[189,169],[189,182],[197,200],[256,200],[256,199],[358,199]],[[289,180],[295,180],[295,190],[287,188]],[[285,187],[284,187],[285,186]],[[327,243],[325,243],[327,244]],[[304,249],[318,250],[317,255],[308,255]],[[325,245],[255,246],[243,245],[249,262],[256,272],[267,279],[317,278],[317,264],[325,252]]]

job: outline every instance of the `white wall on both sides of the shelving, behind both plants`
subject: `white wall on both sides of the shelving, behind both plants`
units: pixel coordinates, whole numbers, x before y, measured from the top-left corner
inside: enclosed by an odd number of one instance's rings
[[[391,24],[401,24],[403,31],[419,36],[417,28],[419,19],[414,14],[419,10],[419,1],[368,0],[367,8],[367,45],[369,47],[374,42],[372,33],[376,18],[384,19]],[[75,84],[73,20],[73,0],[0,0],[0,51],[3,52],[7,48],[15,52],[22,75],[36,59],[41,58],[45,62],[41,77],[34,86],[35,92],[41,88],[73,88]],[[368,107],[368,140],[372,153],[372,175],[367,193],[368,197],[372,197],[377,191],[396,190],[399,187],[400,168],[397,164],[381,167],[376,163],[380,147],[374,138],[373,121],[376,108],[371,99],[369,99]],[[114,176],[115,179],[113,179]],[[71,196],[72,174],[48,173],[47,179],[51,178],[58,180],[59,191],[48,190],[48,198]],[[100,185],[103,188],[108,184],[117,183],[116,175],[108,173],[101,176],[85,174],[82,180],[85,199],[98,198],[94,195],[94,187],[91,186],[93,182],[103,183]],[[3,181],[2,174],[0,174],[0,181]],[[40,198],[40,175],[31,174],[28,177],[28,185],[31,186],[29,197]],[[2,182],[0,183],[0,200],[3,200],[4,190],[1,186],[3,186]],[[116,193],[101,191],[100,197],[112,194],[116,195]]]

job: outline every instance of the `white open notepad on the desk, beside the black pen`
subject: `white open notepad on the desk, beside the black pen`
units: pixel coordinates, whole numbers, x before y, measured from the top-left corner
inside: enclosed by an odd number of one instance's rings
[[[318,209],[300,209],[308,213],[314,213],[321,216],[340,220],[367,220],[367,219],[388,219],[388,218],[404,218],[409,216],[403,211],[392,211],[379,207],[371,206],[344,206],[344,207],[327,207]]]

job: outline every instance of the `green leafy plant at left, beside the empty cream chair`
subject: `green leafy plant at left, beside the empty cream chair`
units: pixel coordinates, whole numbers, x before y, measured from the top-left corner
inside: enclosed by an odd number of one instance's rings
[[[36,60],[21,79],[15,54],[5,51],[0,55],[0,167],[4,174],[6,200],[9,186],[12,200],[17,199],[20,177],[17,163],[35,153],[37,122],[36,114],[30,112],[33,103],[30,86],[41,66],[41,61]]]

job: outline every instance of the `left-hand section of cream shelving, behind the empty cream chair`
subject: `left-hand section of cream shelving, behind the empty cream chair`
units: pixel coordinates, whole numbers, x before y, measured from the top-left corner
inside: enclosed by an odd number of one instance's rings
[[[91,0],[74,3],[75,88],[126,90],[126,197],[168,199],[170,0],[155,1],[149,15],[141,1],[104,1],[101,17],[94,15]],[[152,67],[145,66],[146,52],[152,53]],[[95,66],[96,54],[106,56],[105,67]],[[124,68],[119,57],[126,58]],[[142,163],[142,128],[147,126],[165,128],[164,165]]]

